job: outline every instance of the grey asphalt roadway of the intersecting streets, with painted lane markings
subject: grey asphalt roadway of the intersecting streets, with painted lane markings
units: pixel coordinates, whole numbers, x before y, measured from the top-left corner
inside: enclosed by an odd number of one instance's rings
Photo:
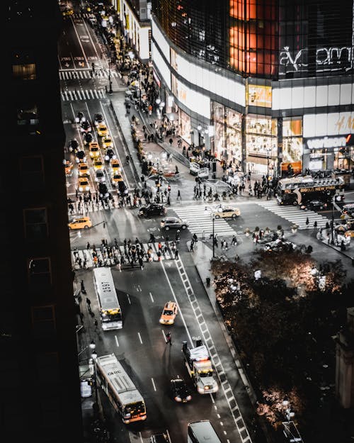
[[[240,376],[238,364],[224,337],[222,325],[215,315],[210,299],[200,280],[200,274],[187,247],[187,242],[196,234],[208,241],[212,232],[219,240],[231,242],[236,235],[238,247],[230,249],[226,256],[237,253],[239,257],[250,257],[254,245],[245,237],[245,230],[254,230],[256,226],[273,232],[281,225],[285,238],[298,244],[311,244],[316,257],[331,255],[333,259],[341,258],[347,269],[350,269],[350,258],[341,256],[336,250],[330,249],[324,242],[316,240],[314,222],[318,228],[324,227],[332,216],[339,219],[340,212],[336,211],[301,211],[296,206],[279,206],[272,200],[249,196],[227,197],[225,201],[196,201],[193,199],[195,179],[188,174],[188,169],[173,159],[172,166],[178,164],[183,172],[181,179],[171,183],[171,206],[166,206],[167,216],[177,216],[188,220],[187,230],[181,230],[181,241],[178,244],[179,258],[175,259],[174,252],[167,249],[163,259],[157,259],[158,242],[175,239],[176,232],[161,230],[162,216],[139,217],[139,207],[125,205],[118,207],[119,196],[111,179],[113,169],[110,161],[105,160],[105,149],[102,140],[93,123],[96,113],[101,113],[113,140],[112,149],[120,164],[120,174],[127,187],[127,193],[132,195],[135,189],[142,189],[142,183],[136,181],[136,171],[139,164],[132,145],[129,116],[124,113],[126,85],[115,67],[109,67],[102,44],[93,29],[79,14],[65,21],[65,32],[59,45],[60,82],[62,89],[62,115],[67,135],[67,151],[64,160],[72,163],[72,170],[67,174],[67,196],[74,206],[68,207],[69,220],[79,216],[89,217],[91,227],[70,231],[72,248],[72,264],[75,270],[75,285],[80,288],[84,280],[87,296],[91,300],[94,318],[99,318],[98,301],[93,285],[93,256],[92,247],[98,252],[103,251],[102,241],[112,246],[117,241],[120,254],[124,254],[124,240],[135,242],[139,239],[147,249],[150,235],[155,237],[154,261],[144,262],[144,268],[130,267],[127,264],[122,269],[110,264],[115,288],[122,308],[122,330],[103,332],[93,323],[86,308],[85,296],[80,302],[80,311],[84,314],[84,332],[78,334],[78,352],[87,347],[91,340],[96,342],[98,356],[114,353],[138,387],[147,405],[147,420],[131,425],[124,425],[110,404],[103,391],[98,388],[99,403],[103,415],[110,423],[110,430],[116,442],[131,442],[139,439],[147,442],[150,435],[169,431],[172,443],[182,443],[186,440],[188,422],[208,419],[215,425],[223,443],[256,441],[255,429],[252,425],[255,411]],[[95,65],[96,74],[92,74],[91,64]],[[109,82],[112,81],[113,94],[107,94]],[[114,112],[113,112],[114,111]],[[93,140],[98,142],[99,156],[103,163],[103,173],[108,193],[113,197],[107,204],[98,199],[98,184],[95,181],[93,157],[90,157],[89,146],[84,144],[84,133],[81,124],[75,122],[78,113],[84,113],[92,125]],[[118,116],[119,127],[115,116]],[[131,116],[130,116],[131,117]],[[142,123],[139,123],[140,127]],[[89,190],[79,191],[79,169],[76,155],[69,150],[69,141],[76,139],[79,150],[84,150],[89,174]],[[156,142],[145,149],[150,149],[155,156],[160,156],[164,150]],[[130,155],[134,164],[127,164],[126,156]],[[138,173],[140,169],[138,169]],[[163,189],[167,186],[164,184]],[[161,189],[161,192],[163,191]],[[181,189],[182,199],[176,201],[177,191]],[[154,189],[152,190],[156,192]],[[81,201],[80,201],[81,196]],[[95,197],[94,201],[84,198]],[[79,206],[80,203],[80,206]],[[144,200],[143,200],[144,203]],[[237,218],[222,218],[213,220],[211,210],[219,204],[227,204],[239,208],[241,215]],[[309,218],[309,225],[306,223]],[[291,233],[291,226],[296,223],[299,232]],[[87,247],[89,242],[90,247]],[[211,242],[210,242],[211,244]],[[330,252],[329,252],[330,251]],[[223,254],[218,248],[217,255]],[[86,260],[86,269],[76,262],[76,255]],[[231,257],[232,258],[232,257]],[[208,263],[205,263],[208,267]],[[159,316],[167,301],[178,304],[176,324],[161,326]],[[78,316],[78,325],[80,324]],[[166,344],[165,335],[170,331],[172,345]],[[202,396],[195,391],[188,372],[185,368],[181,353],[182,342],[195,344],[201,338],[212,355],[219,382],[217,394]],[[81,361],[85,363],[89,354],[82,354]],[[192,391],[190,403],[178,404],[169,391],[169,381],[175,376],[185,378]]]

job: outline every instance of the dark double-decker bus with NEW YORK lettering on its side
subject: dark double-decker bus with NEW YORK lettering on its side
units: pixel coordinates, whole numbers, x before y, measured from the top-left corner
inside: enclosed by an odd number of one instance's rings
[[[336,179],[325,177],[314,179],[312,176],[296,176],[289,179],[280,179],[275,188],[275,194],[280,205],[300,205],[311,200],[320,200],[324,203],[344,199],[343,177]]]

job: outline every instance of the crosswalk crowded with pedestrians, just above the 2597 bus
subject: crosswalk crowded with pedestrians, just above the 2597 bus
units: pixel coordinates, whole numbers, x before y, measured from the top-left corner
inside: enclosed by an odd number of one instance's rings
[[[148,261],[147,258],[147,250],[149,249],[149,245],[152,246],[152,259],[154,262],[159,261],[159,243],[142,243],[142,247],[144,249],[144,262]],[[103,250],[103,248],[96,247],[96,255],[98,261],[101,260],[101,263],[103,266],[115,266],[115,264],[118,264],[120,262],[121,257],[125,257],[125,261],[127,262],[127,257],[125,256],[124,247],[123,245],[118,246],[115,249],[115,254],[111,254],[111,257],[109,256],[106,251]],[[163,253],[161,253],[160,259],[161,260],[171,260],[175,258],[175,254],[173,250],[170,247],[167,247]],[[74,269],[80,269],[79,262],[81,262],[81,266],[83,266],[84,262],[86,262],[86,268],[89,269],[93,266],[95,266],[94,259],[93,259],[93,249],[73,249],[72,250],[72,267]]]

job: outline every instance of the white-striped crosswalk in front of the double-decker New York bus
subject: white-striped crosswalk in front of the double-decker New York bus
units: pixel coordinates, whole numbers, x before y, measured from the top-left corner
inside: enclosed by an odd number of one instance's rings
[[[313,229],[314,222],[317,222],[317,228],[324,228],[329,219],[320,215],[314,211],[302,211],[298,206],[280,206],[277,201],[256,201],[262,208],[268,209],[279,215],[281,218],[295,223],[299,226],[299,229]],[[309,224],[306,224],[307,217],[309,218]]]

